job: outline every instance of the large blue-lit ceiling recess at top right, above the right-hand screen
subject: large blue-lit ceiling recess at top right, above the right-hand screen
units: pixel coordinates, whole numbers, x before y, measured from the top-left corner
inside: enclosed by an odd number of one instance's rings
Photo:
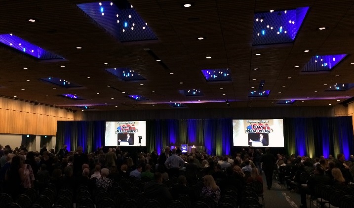
[[[293,42],[309,7],[254,14],[253,45]]]

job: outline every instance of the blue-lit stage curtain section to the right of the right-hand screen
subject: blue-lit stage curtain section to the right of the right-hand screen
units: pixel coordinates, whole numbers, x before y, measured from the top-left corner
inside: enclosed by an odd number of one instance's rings
[[[346,117],[286,118],[284,139],[289,154],[319,157],[354,151],[353,120]]]

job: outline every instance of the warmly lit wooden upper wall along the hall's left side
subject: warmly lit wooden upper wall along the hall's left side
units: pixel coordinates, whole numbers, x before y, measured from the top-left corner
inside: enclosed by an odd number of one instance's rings
[[[0,133],[56,135],[57,121],[82,120],[81,112],[0,97]]]

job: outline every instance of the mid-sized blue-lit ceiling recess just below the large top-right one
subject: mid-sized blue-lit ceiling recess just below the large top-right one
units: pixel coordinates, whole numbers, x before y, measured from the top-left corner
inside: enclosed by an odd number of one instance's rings
[[[301,72],[323,72],[331,71],[347,54],[313,56],[304,66]]]

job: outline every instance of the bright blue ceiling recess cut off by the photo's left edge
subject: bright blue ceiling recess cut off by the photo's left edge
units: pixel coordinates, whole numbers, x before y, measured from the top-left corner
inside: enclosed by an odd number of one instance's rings
[[[63,59],[62,57],[50,53],[43,48],[27,42],[20,37],[17,37],[13,34],[2,34],[0,35],[0,43],[3,45],[16,49],[18,52],[30,55],[31,57],[37,60],[55,60]]]

